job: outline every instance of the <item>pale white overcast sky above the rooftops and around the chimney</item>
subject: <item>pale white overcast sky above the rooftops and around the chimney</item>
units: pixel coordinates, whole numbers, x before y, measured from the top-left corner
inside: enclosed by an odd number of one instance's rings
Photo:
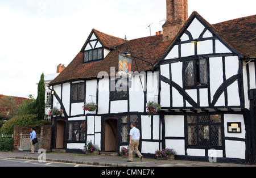
[[[255,0],[188,0],[210,24],[255,15]],[[37,95],[42,73],[67,66],[92,28],[128,40],[162,30],[166,0],[1,0],[0,94]]]

